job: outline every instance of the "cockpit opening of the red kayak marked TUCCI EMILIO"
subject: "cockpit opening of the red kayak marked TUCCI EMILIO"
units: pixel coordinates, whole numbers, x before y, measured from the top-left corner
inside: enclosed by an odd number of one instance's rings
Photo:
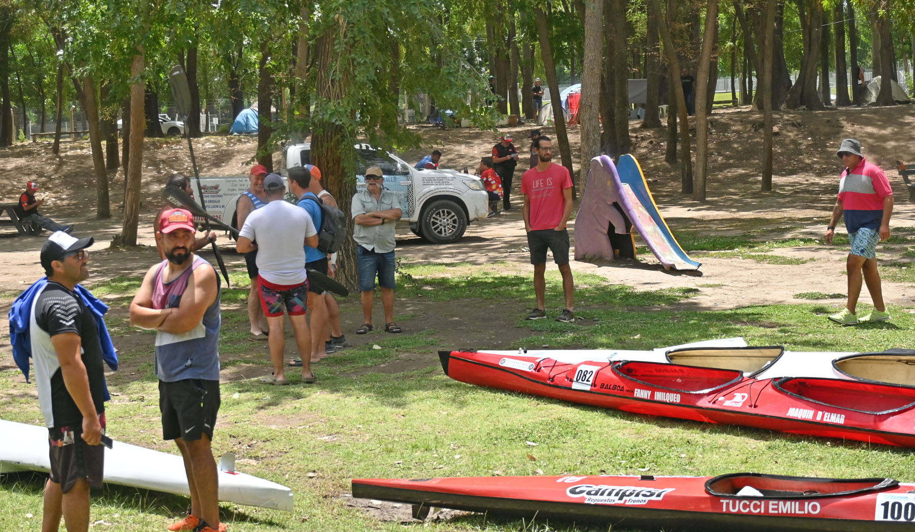
[[[761,473],[727,473],[705,481],[705,493],[719,497],[809,499],[862,495],[895,488],[891,478],[811,478]]]

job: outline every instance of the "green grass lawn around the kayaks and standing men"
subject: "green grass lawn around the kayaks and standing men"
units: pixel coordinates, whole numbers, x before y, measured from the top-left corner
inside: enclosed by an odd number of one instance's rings
[[[706,242],[703,247],[699,240],[689,234],[680,239],[691,250],[766,255],[781,245],[741,237]],[[138,282],[116,278],[94,290],[113,298],[123,316]],[[751,345],[777,344],[795,351],[877,350],[909,346],[913,326],[912,314],[892,308],[892,322],[839,328],[827,325],[823,317],[834,308],[815,301],[696,312],[684,310],[681,303],[697,289],[635,292],[595,275],[576,277],[576,285],[577,314],[584,318],[577,324],[524,321],[520,309],[529,299],[529,274],[479,271],[469,265],[404,267],[398,298],[443,306],[448,302],[464,309],[499,303],[510,310],[492,316],[492,328],[530,329],[532,335],[515,346],[551,348],[647,349],[741,335]],[[233,307],[223,309],[228,324],[247,319],[242,308],[246,289],[233,286],[223,295]],[[548,300],[559,301],[561,294],[558,274],[548,271]],[[834,294],[806,295],[816,300]],[[344,304],[352,308],[358,302],[350,298]],[[109,325],[116,330],[116,343],[130,337],[136,346],[120,354],[133,373],[110,379],[115,395],[108,403],[109,434],[115,440],[175,452],[160,438],[153,336],[130,328],[123,317],[111,319]],[[242,335],[222,338],[223,369],[244,363],[266,370],[265,356],[251,354],[252,343],[238,336]],[[264,387],[243,379],[224,383],[215,454],[235,452],[240,471],[288,485],[296,497],[292,514],[222,504],[222,519],[229,529],[403,530],[397,520],[380,521],[350,505],[351,499],[343,495],[350,492],[354,477],[759,472],[915,480],[915,457],[908,450],[651,418],[462,384],[445,377],[437,366],[438,348],[457,347],[442,338],[433,328],[409,335],[372,333],[366,346],[347,348],[322,361],[316,386]],[[486,347],[475,345],[473,338],[461,340],[459,346]],[[404,358],[419,363],[397,369],[393,363]],[[0,394],[4,419],[41,423],[34,383],[24,383],[16,368],[0,371],[0,389],[5,390]],[[0,530],[39,529],[43,482],[38,474],[0,477]],[[106,485],[93,493],[92,529],[165,530],[187,505],[188,499],[178,495]],[[492,516],[461,516],[411,527],[443,532],[608,529]]]

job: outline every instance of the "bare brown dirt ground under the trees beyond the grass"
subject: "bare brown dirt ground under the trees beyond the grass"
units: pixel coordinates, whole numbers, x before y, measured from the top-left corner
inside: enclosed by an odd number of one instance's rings
[[[780,112],[776,115],[778,135],[775,137],[775,173],[773,192],[760,193],[759,154],[762,147],[762,116],[748,108],[717,111],[710,118],[710,158],[707,199],[697,202],[680,193],[677,165],[663,161],[666,133],[664,129],[643,130],[639,122],[631,124],[632,153],[649,179],[655,202],[662,216],[673,229],[699,230],[708,235],[739,234],[748,229],[770,232],[773,238],[806,236],[822,238],[829,220],[837,189],[837,176],[841,162],[835,157],[839,142],[846,136],[855,136],[864,144],[869,160],[881,165],[888,173],[896,193],[896,209],[892,225],[913,226],[910,219],[913,206],[908,202],[908,191],[895,172],[896,159],[915,160],[910,153],[911,134],[915,127],[915,107],[904,105],[893,108],[843,109],[825,112]],[[519,151],[526,153],[531,125],[505,128],[515,135]],[[498,134],[473,128],[441,130],[420,126],[426,146],[406,152],[408,162],[418,160],[430,149],[443,152],[444,167],[475,168],[479,157],[490,153]],[[554,137],[552,128],[545,134]],[[578,131],[570,130],[570,141],[578,166]],[[555,141],[554,141],[555,144]],[[231,176],[246,174],[247,161],[254,152],[255,141],[242,137],[205,137],[195,141],[195,154],[204,176]],[[558,157],[558,154],[556,155]],[[281,165],[279,154],[274,155],[274,165]],[[524,165],[524,157],[522,164]],[[18,144],[0,150],[0,173],[7,176],[0,183],[0,200],[15,202],[27,180],[37,180],[41,185],[38,196],[47,195],[42,211],[61,223],[76,224],[76,234],[92,235],[90,268],[97,282],[118,275],[140,275],[154,261],[156,252],[150,230],[152,217],[159,206],[158,191],[166,177],[174,172],[190,175],[187,144],[181,139],[149,140],[144,153],[144,201],[139,230],[139,243],[133,250],[109,248],[113,235],[120,232],[123,218],[121,198],[124,175],[119,170],[111,176],[113,218],[95,218],[96,189],[92,178],[92,157],[85,141],[63,142],[61,153],[54,156],[50,143]],[[516,173],[514,196],[519,197],[521,172]],[[520,202],[516,202],[520,205]],[[574,222],[570,223],[573,229]],[[6,233],[8,235],[8,233]],[[573,237],[574,238],[574,237]],[[0,253],[4,267],[0,269],[0,312],[4,315],[16,295],[42,275],[38,265],[38,250],[43,238],[0,238]],[[227,248],[231,242],[221,237]],[[514,209],[496,218],[470,224],[467,236],[457,243],[435,246],[414,237],[406,227],[398,229],[397,254],[407,263],[462,261],[487,267],[493,261],[507,261],[517,271],[530,271],[524,239],[521,210]],[[802,265],[765,264],[739,258],[704,257],[702,253],[691,256],[703,262],[700,271],[664,271],[651,255],[641,255],[638,261],[617,261],[592,264],[573,261],[573,271],[587,271],[602,275],[612,282],[630,285],[637,290],[667,287],[691,287],[698,295],[680,303],[695,310],[719,310],[748,304],[800,303],[794,294],[805,292],[844,293],[844,262],[847,250],[823,244],[780,249],[783,256],[813,258]],[[204,256],[208,256],[204,253]],[[241,269],[242,259],[233,251],[226,253],[231,267]],[[884,283],[887,303],[904,308],[915,306],[912,294],[915,288],[908,284]],[[350,298],[353,299],[353,298]],[[533,299],[533,294],[532,294]],[[862,301],[869,303],[867,293]],[[841,300],[828,303],[838,305]],[[502,326],[493,327],[492,316],[503,311],[462,308],[469,303],[450,302],[447,305],[422,301],[397,303],[396,314],[412,315],[398,322],[409,334],[425,328],[434,328],[443,341],[455,345],[474,338],[479,346],[507,346],[529,332],[512,326],[513,319]],[[548,302],[558,307],[559,302]],[[587,301],[576,302],[580,308]],[[344,307],[343,321],[350,341],[369,339],[351,334],[359,325],[361,315],[358,302]],[[519,312],[522,309],[518,309]],[[116,312],[124,312],[116,310]],[[240,329],[241,330],[241,329]],[[134,336],[134,335],[131,335]],[[147,338],[137,338],[146,342]],[[388,371],[408,369],[414,364],[425,364],[426,356],[407,358],[388,367]],[[0,368],[12,364],[8,325],[0,320]],[[401,366],[403,365],[403,367]],[[240,375],[244,366],[236,366]],[[381,369],[381,368],[380,368]],[[382,369],[385,370],[385,369]],[[118,372],[121,373],[121,372]],[[235,376],[226,376],[233,378]]]

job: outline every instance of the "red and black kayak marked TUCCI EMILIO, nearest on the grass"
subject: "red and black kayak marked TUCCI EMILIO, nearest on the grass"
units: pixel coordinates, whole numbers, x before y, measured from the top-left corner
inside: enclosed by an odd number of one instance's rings
[[[915,484],[729,473],[353,479],[352,495],[525,518],[663,530],[912,530]],[[424,511],[425,509],[425,511]]]

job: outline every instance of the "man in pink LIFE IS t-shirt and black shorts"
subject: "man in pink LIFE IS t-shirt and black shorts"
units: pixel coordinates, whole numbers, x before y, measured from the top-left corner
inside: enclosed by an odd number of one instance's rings
[[[527,319],[546,317],[544,293],[546,292],[546,250],[553,252],[553,260],[563,276],[565,310],[556,321],[574,322],[572,312],[575,282],[569,268],[569,233],[565,229],[572,215],[572,177],[563,165],[553,163],[553,141],[550,137],[537,139],[536,166],[524,172],[521,192],[524,195],[524,230],[533,264],[533,292],[537,306],[527,314]]]

